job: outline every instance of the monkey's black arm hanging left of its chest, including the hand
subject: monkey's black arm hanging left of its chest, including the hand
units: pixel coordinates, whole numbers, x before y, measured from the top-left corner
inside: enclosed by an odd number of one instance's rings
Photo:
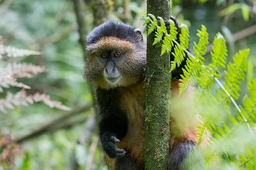
[[[125,150],[116,148],[115,143],[124,138],[127,120],[118,107],[118,94],[113,90],[97,89],[97,101],[100,106],[100,141],[109,157],[122,157]]]

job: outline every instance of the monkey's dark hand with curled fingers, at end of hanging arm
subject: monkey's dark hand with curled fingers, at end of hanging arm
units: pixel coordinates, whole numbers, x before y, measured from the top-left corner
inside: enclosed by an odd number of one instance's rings
[[[116,138],[116,134],[104,132],[100,136],[102,148],[111,158],[123,157],[125,155],[125,150],[116,148],[115,144],[119,143],[120,140]]]

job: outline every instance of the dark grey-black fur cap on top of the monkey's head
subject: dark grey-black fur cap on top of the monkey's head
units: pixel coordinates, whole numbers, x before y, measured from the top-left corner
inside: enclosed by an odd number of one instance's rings
[[[104,24],[95,27],[92,32],[87,37],[87,45],[92,45],[99,41],[102,37],[115,36],[120,39],[125,39],[134,43],[134,27],[130,25],[123,24],[121,22],[108,21]]]

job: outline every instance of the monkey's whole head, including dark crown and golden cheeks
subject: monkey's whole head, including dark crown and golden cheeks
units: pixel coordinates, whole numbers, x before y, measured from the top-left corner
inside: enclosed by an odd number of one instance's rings
[[[84,76],[101,89],[127,87],[143,78],[146,46],[138,29],[109,21],[87,37]]]

